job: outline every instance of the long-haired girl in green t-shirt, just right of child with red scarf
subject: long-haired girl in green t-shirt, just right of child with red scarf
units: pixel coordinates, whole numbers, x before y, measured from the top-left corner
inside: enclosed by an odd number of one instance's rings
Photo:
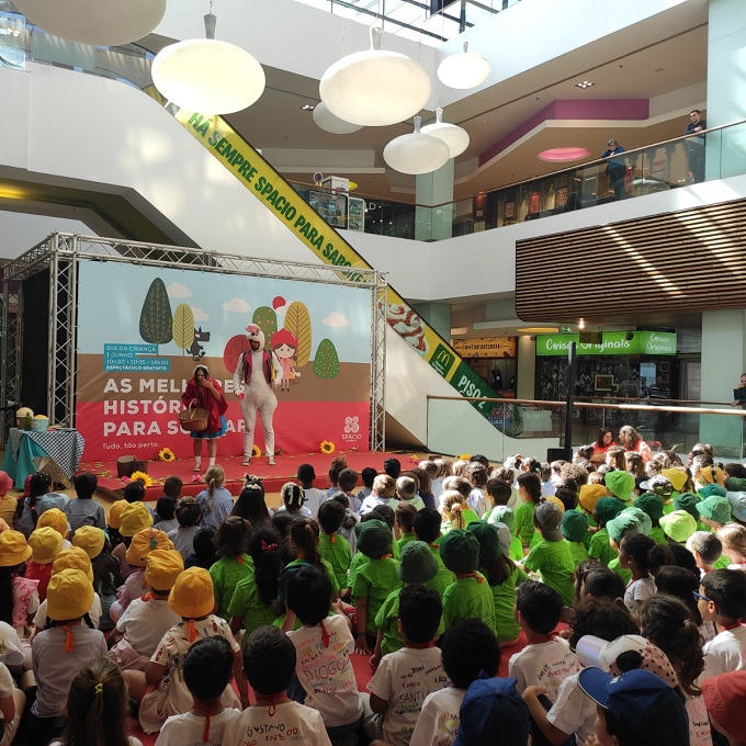
[[[512,536],[505,523],[476,521],[467,530],[479,542],[479,572],[487,579],[495,601],[494,631],[500,646],[513,645],[521,633],[513,614],[516,587],[529,576],[509,556]]]

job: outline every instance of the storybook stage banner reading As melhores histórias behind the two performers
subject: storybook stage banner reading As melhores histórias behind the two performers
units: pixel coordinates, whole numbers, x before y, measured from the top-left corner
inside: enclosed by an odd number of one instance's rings
[[[244,453],[234,372],[257,324],[279,352],[275,449],[369,448],[371,307],[368,289],[81,261],[78,278],[76,427],[86,459],[191,455],[178,422],[197,363],[228,402],[218,457]],[[264,449],[259,418],[256,442]]]

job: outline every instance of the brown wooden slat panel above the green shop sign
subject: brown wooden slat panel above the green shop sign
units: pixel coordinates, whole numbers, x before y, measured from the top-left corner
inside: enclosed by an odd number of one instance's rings
[[[746,308],[746,200],[518,241],[523,321]]]

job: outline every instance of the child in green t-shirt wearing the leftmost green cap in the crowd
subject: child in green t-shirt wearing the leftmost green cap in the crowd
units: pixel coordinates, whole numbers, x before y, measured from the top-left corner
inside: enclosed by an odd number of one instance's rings
[[[388,525],[377,519],[355,525],[358,552],[369,558],[357,573],[352,598],[358,608],[355,653],[369,655],[375,647],[378,628],[376,614],[388,595],[400,585],[399,563],[392,556],[394,535]]]

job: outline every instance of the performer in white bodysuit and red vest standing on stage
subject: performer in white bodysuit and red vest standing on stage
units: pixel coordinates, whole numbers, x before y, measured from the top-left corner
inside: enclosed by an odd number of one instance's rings
[[[272,417],[278,408],[278,397],[273,387],[276,388],[282,382],[282,365],[278,355],[271,350],[264,349],[264,332],[256,325],[246,327],[246,336],[249,338],[251,353],[242,352],[238,358],[238,365],[234,373],[236,394],[241,403],[244,422],[244,461],[247,465],[251,462],[253,450],[253,430],[257,423],[257,410],[261,417],[261,426],[264,430],[264,448],[269,456],[270,465],[274,464],[274,428]]]

